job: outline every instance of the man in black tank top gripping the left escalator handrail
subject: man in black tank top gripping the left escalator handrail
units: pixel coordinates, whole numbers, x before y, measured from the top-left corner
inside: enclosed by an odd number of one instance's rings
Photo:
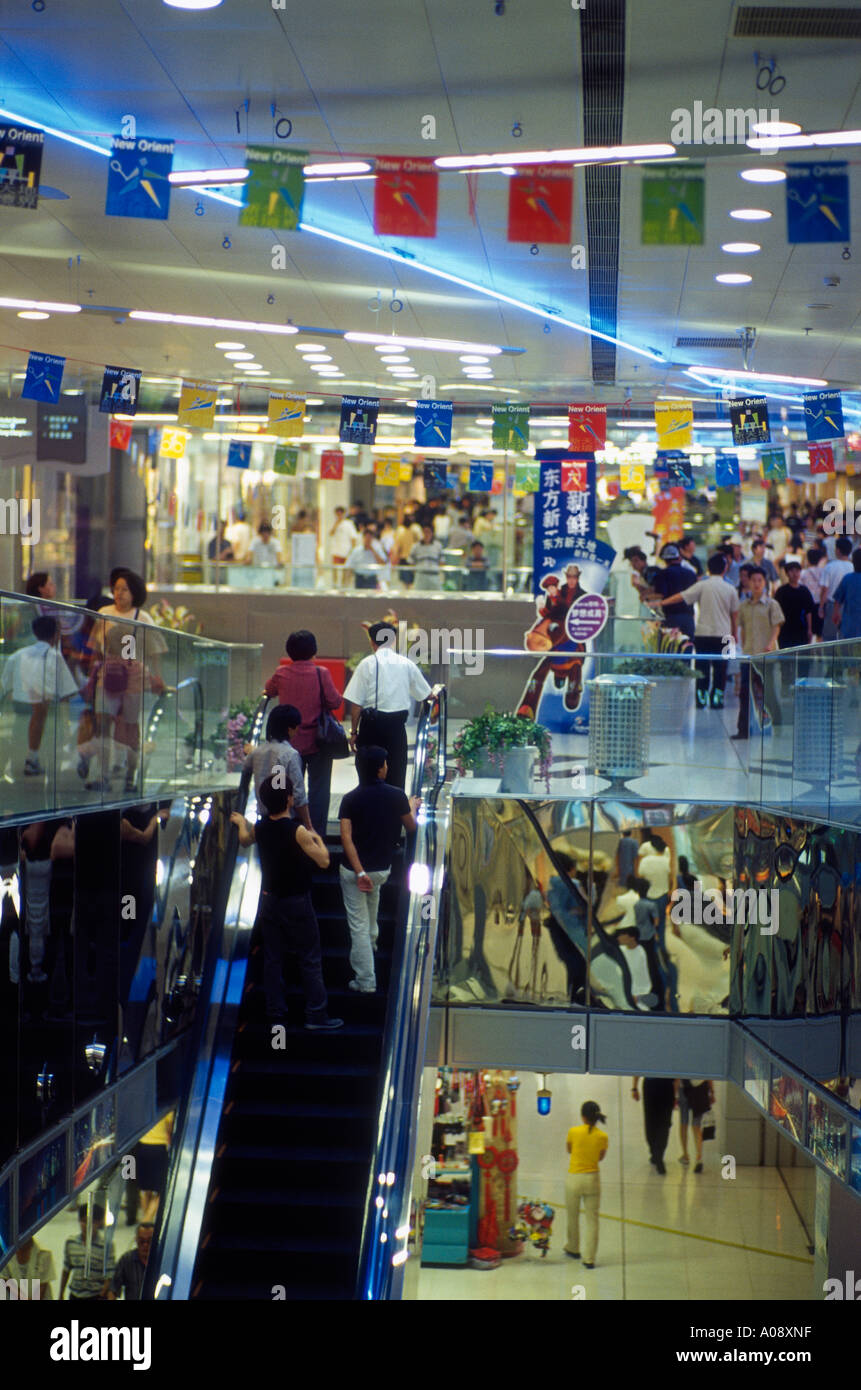
[[[312,865],[328,867],[328,849],[312,830],[291,819],[293,788],[282,769],[260,783],[259,798],[268,816],[250,826],[234,812],[239,844],[256,842],[260,855],[261,888],[257,924],[263,933],[263,987],[266,1013],[285,1022],[284,956],[298,956],[305,990],[305,1027],[339,1029],[344,1019],[330,1019],[328,995],[323,983],[320,927],[312,906]]]

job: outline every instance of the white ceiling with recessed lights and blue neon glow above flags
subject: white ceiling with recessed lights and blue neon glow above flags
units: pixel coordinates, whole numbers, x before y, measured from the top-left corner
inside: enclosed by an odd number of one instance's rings
[[[598,24],[601,0],[587,0],[584,14]],[[625,140],[666,140],[670,113],[697,100],[707,107],[776,106],[780,118],[804,129],[861,126],[858,44],[757,44],[730,36],[733,15],[733,0],[627,0]],[[755,90],[757,47],[776,57],[786,75],[778,99]],[[577,145],[580,11],[565,0],[505,0],[502,15],[494,14],[494,0],[287,0],[285,10],[264,0],[224,0],[217,10],[193,14],[161,0],[46,0],[36,13],[26,0],[0,0],[0,106],[33,124],[99,143],[99,135],[115,133],[121,118],[134,114],[138,133],[178,142],[174,168],[235,165],[243,163],[246,138],[273,142],[273,103],[293,122],[287,143],[316,153],[505,150],[516,143],[515,121],[523,126],[523,147]],[[420,138],[427,114],[437,121],[433,142]],[[695,156],[708,165],[702,247],[641,246],[641,172],[622,170],[619,336],[675,364],[740,366],[737,352],[682,350],[673,343],[682,334],[732,335],[750,324],[758,332],[751,363],[757,370],[857,388],[858,259],[842,260],[840,246],[787,246],[783,186],[739,178],[741,168],[778,163],[775,157],[714,146]],[[853,160],[851,149],[847,157]],[[524,348],[522,356],[494,361],[495,399],[517,392],[517,399],[536,402],[613,400],[626,388],[634,399],[650,399],[665,389],[690,389],[680,366],[663,367],[625,349],[618,353],[616,386],[593,386],[588,339],[572,328],[552,325],[545,332],[540,318],[522,310],[307,232],[239,228],[238,211],[213,200],[203,200],[206,213],[198,217],[195,193],[172,190],[168,222],[106,218],[106,171],[104,158],[47,138],[42,179],[70,196],[43,199],[36,213],[0,208],[3,295]],[[851,175],[853,221],[861,225],[857,165]],[[310,188],[305,220],[391,246],[373,234],[373,186]],[[504,175],[481,174],[473,222],[466,179],[446,174],[437,238],[412,239],[403,249],[428,265],[587,322],[587,272],[572,270],[565,246],[541,246],[530,256],[527,246],[509,245],[506,197]],[[737,222],[727,215],[736,206],[765,207],[773,217]],[[230,250],[223,247],[225,236]],[[721,250],[726,239],[761,242],[762,252],[727,256]],[[574,171],[573,240],[586,242],[583,171]],[[287,247],[285,271],[271,270],[275,242]],[[725,270],[746,270],[753,284],[716,285],[715,274]],[[840,285],[826,289],[823,277],[832,274]],[[377,292],[381,307],[373,313],[369,302]],[[399,314],[388,309],[394,292],[405,304]],[[811,310],[810,303],[830,307]],[[25,322],[14,310],[0,310],[0,371],[21,371],[24,349],[35,348],[65,354],[70,379],[88,382],[100,379],[103,363],[138,366],[145,375],[245,379],[214,348],[223,338],[245,341],[273,379],[309,392],[356,384],[363,391],[376,385],[384,396],[410,395],[408,386],[392,388],[371,348],[335,339],[327,350],[345,379],[327,385],[300,361],[289,338],[115,324],[110,314]],[[455,399],[492,399],[487,389],[452,389],[460,379],[455,356],[410,356],[419,373],[434,374]]]

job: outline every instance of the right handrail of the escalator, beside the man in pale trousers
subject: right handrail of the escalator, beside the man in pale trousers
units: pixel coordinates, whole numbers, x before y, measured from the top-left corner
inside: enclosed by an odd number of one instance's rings
[[[440,847],[445,848],[446,810],[438,805],[446,774],[446,691],[442,685],[434,687],[420,708],[413,760],[415,795],[420,794],[424,781],[428,730],[434,712],[438,721],[437,766],[427,802],[419,812],[416,851],[409,874],[406,927],[403,933],[398,933],[392,954],[380,1068],[377,1138],[369,1170],[356,1280],[359,1300],[381,1300],[389,1295],[392,1272],[401,1265],[401,1255],[395,1247],[396,1232],[401,1232],[396,1238],[403,1243],[403,1251],[406,1250],[403,1227],[405,1225],[409,1227],[416,1145],[413,1116],[424,1065],[437,931],[437,913],[426,912],[424,903],[428,898],[431,903],[440,902],[444,883]],[[389,1175],[394,1176],[391,1183]],[[394,1257],[398,1258],[396,1265],[392,1264]]]

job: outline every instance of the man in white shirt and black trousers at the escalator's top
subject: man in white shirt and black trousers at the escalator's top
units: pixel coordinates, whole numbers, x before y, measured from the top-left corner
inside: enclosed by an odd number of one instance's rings
[[[374,623],[367,630],[373,656],[353,671],[344,699],[351,705],[349,745],[385,748],[387,783],[406,785],[406,720],[415,699],[430,695],[430,685],[409,656],[395,651],[398,634],[391,623]],[[362,716],[362,723],[359,717]]]

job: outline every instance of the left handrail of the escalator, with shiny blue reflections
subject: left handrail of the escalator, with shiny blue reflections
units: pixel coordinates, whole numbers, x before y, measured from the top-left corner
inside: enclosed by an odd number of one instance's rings
[[[257,742],[264,724],[266,710],[270,705],[267,695],[261,696],[253,714],[249,742]],[[239,778],[236,791],[236,805],[243,813],[252,794],[252,773],[245,769]],[[234,884],[236,866],[241,859],[241,847],[236,828],[231,826],[224,852],[223,890],[220,901],[213,905],[214,919],[206,948],[206,962],[202,973],[198,1011],[193,1024],[193,1040],[189,1051],[189,1074],[182,1087],[182,1101],[177,1113],[174,1127],[174,1150],[168,1182],[159,1211],[159,1226],[154,1233],[150,1258],[147,1262],[143,1298],[156,1297],[156,1289],[167,1277],[170,1297],[182,1297],[178,1286],[178,1268],[193,1238],[193,1229],[199,1227],[203,1219],[203,1205],[199,1202],[198,1211],[191,1211],[192,1198],[199,1195],[203,1186],[203,1173],[211,1168],[214,1158],[214,1136],[217,1134],[221,1105],[224,1102],[224,1088],[227,1076],[216,1076],[218,1063],[224,1061],[224,1005],[228,995],[242,994],[245,970],[248,967],[248,944],[250,931],[242,931],[239,905],[236,905],[235,920],[227,922],[230,906],[230,891]],[[250,865],[250,848],[246,853],[246,865]],[[246,870],[248,872],[248,870]],[[218,920],[216,920],[216,913]],[[228,935],[230,934],[230,935]],[[232,1042],[232,1037],[231,1037]],[[230,1068],[230,1048],[228,1048]],[[221,1070],[227,1069],[221,1066]],[[202,1154],[204,1136],[213,1136],[213,1151]],[[196,1173],[196,1190],[192,1191],[192,1179]],[[209,1182],[206,1182],[209,1188]],[[196,1241],[195,1241],[196,1248]],[[188,1257],[186,1262],[188,1262]],[[192,1261],[193,1266],[193,1261]],[[191,1270],[185,1270],[184,1284],[191,1283]],[[160,1289],[159,1289],[160,1291]],[[188,1297],[188,1291],[185,1293]]]

